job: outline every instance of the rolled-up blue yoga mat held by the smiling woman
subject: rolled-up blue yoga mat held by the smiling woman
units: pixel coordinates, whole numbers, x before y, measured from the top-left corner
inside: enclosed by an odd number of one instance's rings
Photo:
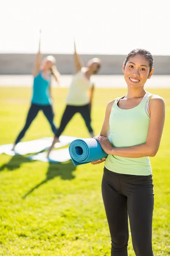
[[[90,163],[107,157],[95,139],[77,139],[71,142],[69,153],[74,165]]]

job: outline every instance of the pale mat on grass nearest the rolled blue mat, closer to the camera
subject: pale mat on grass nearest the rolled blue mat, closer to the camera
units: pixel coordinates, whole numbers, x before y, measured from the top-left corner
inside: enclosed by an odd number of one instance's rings
[[[68,148],[52,150],[47,158],[47,152],[38,153],[36,155],[28,156],[28,159],[39,160],[42,162],[62,163],[71,160]]]

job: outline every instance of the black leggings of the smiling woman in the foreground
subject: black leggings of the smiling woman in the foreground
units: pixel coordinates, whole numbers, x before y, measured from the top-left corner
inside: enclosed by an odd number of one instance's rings
[[[102,197],[111,233],[111,256],[127,256],[128,216],[136,256],[153,256],[152,175],[125,175],[104,168]]]

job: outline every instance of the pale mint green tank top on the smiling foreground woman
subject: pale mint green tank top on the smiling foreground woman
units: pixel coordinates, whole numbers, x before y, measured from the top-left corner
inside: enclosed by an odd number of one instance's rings
[[[152,94],[146,93],[135,108],[121,109],[117,98],[114,102],[109,119],[110,141],[113,147],[130,147],[146,142],[150,118],[145,111],[145,105]],[[129,158],[108,155],[105,167],[121,174],[150,175],[152,173],[149,157]]]

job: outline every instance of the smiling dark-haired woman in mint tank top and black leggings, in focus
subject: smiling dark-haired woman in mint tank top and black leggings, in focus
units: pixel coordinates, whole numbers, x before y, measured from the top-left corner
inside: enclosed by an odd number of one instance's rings
[[[153,56],[131,51],[123,63],[127,94],[109,102],[99,136],[108,157],[102,197],[111,233],[111,256],[127,256],[128,216],[136,256],[153,256],[153,181],[149,157],[156,155],[164,127],[164,100],[144,90]],[[110,140],[108,140],[108,131]]]

